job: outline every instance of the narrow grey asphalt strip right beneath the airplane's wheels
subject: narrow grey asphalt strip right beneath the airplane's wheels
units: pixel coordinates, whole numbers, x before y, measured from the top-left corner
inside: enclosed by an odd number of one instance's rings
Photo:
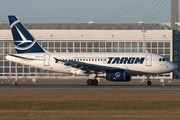
[[[0,90],[180,90],[180,85],[1,84]]]

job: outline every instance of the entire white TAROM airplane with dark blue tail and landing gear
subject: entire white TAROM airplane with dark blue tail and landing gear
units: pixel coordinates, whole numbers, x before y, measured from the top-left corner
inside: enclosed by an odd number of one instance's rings
[[[58,73],[88,76],[87,85],[98,85],[99,78],[128,82],[132,75],[146,75],[147,85],[151,85],[150,75],[177,69],[165,56],[148,52],[49,52],[16,16],[8,18],[17,54],[7,54],[6,60]]]

